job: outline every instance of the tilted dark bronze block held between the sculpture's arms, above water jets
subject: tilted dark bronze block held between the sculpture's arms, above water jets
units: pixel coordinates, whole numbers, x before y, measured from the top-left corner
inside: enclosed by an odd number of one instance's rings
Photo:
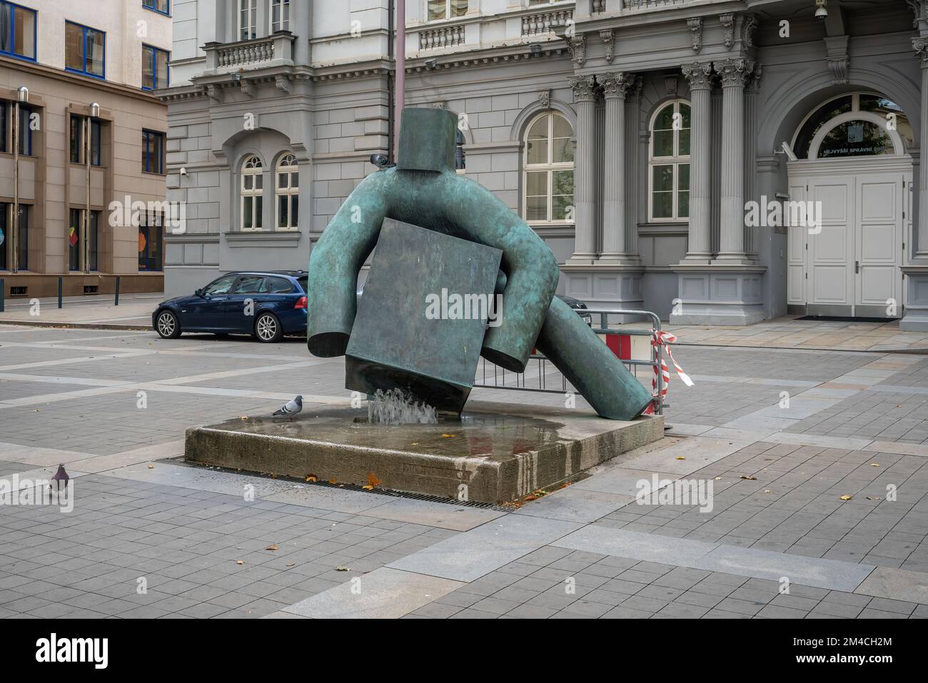
[[[502,251],[387,218],[357,304],[345,386],[403,389],[459,413],[473,386]]]

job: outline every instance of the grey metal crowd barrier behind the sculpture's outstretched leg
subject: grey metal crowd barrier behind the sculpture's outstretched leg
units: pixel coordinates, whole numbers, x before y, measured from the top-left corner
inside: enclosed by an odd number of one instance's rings
[[[656,391],[656,395],[654,395],[654,413],[657,415],[664,415],[664,373],[661,372],[661,366],[664,360],[664,347],[662,344],[650,342],[651,339],[653,339],[655,332],[659,333],[661,331],[661,318],[651,311],[625,310],[621,308],[582,308],[575,310],[580,316],[586,316],[586,314],[590,314],[591,322],[595,316],[599,316],[599,328],[593,327],[593,331],[597,334],[627,334],[631,336],[649,338],[649,343],[651,346],[651,360],[622,360],[622,363],[624,363],[625,366],[628,367],[629,371],[632,372],[636,377],[638,376],[638,367],[651,367],[652,379],[655,382],[653,386]],[[651,318],[651,328],[610,328],[609,316],[648,317]],[[563,375],[561,375],[560,389],[548,387],[548,358],[543,354],[532,354],[529,357],[528,365],[525,367],[526,371],[528,371],[530,366],[533,367],[533,369],[535,369],[535,367],[537,368],[537,382],[535,382],[534,378],[532,380],[526,378],[526,373],[524,372],[517,373],[512,372],[511,370],[507,372],[502,367],[488,362],[483,357],[480,359],[480,361],[481,365],[477,368],[477,377],[475,378],[478,381],[475,381],[473,385],[475,389],[509,389],[510,391],[518,392],[541,393],[565,393],[574,389],[574,387],[571,386],[571,384],[567,381],[567,378],[565,378]],[[537,363],[536,366],[533,361]],[[487,366],[489,366],[489,368]],[[555,370],[556,369],[557,368],[555,368]],[[507,383],[508,377],[513,378],[514,383]],[[535,386],[535,383],[537,383],[537,386]]]

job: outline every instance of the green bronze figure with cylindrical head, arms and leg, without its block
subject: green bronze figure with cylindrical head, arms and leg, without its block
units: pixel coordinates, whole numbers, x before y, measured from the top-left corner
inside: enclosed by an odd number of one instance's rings
[[[498,327],[486,329],[484,358],[522,372],[537,347],[599,416],[638,416],[651,402],[650,393],[580,316],[554,297],[560,275],[554,254],[506,204],[455,172],[457,122],[446,110],[404,110],[396,166],[368,175],[316,242],[307,288],[309,351],[325,357],[345,354],[354,327],[358,273],[377,244],[384,219],[394,219],[502,251],[502,318]],[[386,321],[383,334],[389,334]]]

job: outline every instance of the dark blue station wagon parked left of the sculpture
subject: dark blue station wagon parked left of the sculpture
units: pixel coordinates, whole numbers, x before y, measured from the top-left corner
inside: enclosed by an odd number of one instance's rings
[[[227,273],[192,295],[159,303],[151,326],[165,339],[176,339],[182,332],[211,332],[279,342],[285,334],[306,331],[306,275]]]

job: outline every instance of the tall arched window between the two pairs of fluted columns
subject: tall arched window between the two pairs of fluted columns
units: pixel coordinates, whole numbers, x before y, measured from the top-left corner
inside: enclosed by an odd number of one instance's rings
[[[651,221],[690,218],[690,103],[668,102],[651,121]]]

